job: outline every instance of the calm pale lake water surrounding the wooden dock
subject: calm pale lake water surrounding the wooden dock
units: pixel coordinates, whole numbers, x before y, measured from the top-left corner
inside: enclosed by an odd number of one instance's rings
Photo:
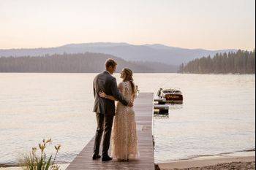
[[[95,75],[0,73],[0,163],[50,137],[48,152],[61,144],[57,159],[72,161],[94,136]],[[140,92],[184,93],[169,117],[154,117],[157,162],[255,148],[255,75],[135,74],[135,82]]]

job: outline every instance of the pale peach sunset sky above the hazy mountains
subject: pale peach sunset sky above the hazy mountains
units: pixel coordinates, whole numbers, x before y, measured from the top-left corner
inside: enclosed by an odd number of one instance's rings
[[[0,49],[127,42],[255,48],[255,0],[0,0]]]

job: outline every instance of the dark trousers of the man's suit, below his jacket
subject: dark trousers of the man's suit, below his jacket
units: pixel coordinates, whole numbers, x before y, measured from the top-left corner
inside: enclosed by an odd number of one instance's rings
[[[103,134],[103,146],[102,146],[102,157],[108,155],[108,149],[110,147],[110,136],[113,125],[114,115],[103,115],[96,113],[97,118],[97,131],[94,139],[94,155],[99,154],[99,145],[102,140]]]

